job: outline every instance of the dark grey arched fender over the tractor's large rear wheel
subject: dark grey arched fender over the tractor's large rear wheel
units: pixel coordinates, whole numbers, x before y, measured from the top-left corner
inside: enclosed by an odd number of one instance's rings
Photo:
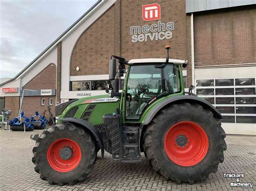
[[[201,105],[202,107],[209,109],[213,113],[213,115],[216,116],[218,119],[223,118],[222,115],[220,114],[220,112],[211,103],[205,101],[204,99],[199,98],[197,96],[193,96],[193,95],[179,95],[179,96],[170,97],[170,98],[160,102],[158,105],[156,105],[149,112],[147,117],[145,118],[143,125],[149,124],[161,108],[165,107],[167,104],[177,102],[177,101],[184,101],[184,102],[188,102],[188,103],[197,103],[197,104]]]

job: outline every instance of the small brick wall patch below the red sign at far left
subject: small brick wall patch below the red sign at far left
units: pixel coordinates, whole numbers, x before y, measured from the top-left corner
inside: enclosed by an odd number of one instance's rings
[[[19,114],[19,103],[19,96],[4,97],[4,108],[12,112],[11,120]]]

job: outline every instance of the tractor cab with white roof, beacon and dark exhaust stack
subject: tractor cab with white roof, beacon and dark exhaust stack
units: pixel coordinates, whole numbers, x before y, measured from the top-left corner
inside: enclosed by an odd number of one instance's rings
[[[120,97],[124,121],[138,122],[146,108],[165,96],[184,94],[184,82],[181,67],[187,61],[169,59],[167,46],[166,59],[133,59],[126,61],[118,56],[111,56],[110,81],[114,81],[111,97]],[[118,72],[116,72],[118,60]],[[127,70],[125,70],[127,65]],[[117,77],[125,75],[122,94],[119,93]],[[112,86],[110,86],[112,88]]]

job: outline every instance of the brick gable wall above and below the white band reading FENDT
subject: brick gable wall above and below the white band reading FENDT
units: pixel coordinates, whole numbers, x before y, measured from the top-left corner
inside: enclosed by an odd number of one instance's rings
[[[56,65],[50,63],[41,73],[37,74],[30,82],[23,86],[23,89],[56,89]],[[41,98],[45,98],[45,106],[41,106]],[[23,111],[25,116],[35,115],[35,111],[43,114],[46,106],[49,105],[49,97],[53,98],[53,106],[51,106],[52,114],[55,115],[55,96],[25,96],[23,100]]]

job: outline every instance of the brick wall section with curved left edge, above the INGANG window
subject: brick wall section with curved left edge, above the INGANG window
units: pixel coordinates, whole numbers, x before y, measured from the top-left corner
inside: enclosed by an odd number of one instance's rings
[[[109,59],[113,54],[114,6],[78,38],[71,55],[70,75],[108,74]]]

